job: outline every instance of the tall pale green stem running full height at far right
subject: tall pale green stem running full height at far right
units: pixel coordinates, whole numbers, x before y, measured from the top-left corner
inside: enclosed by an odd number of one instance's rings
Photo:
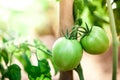
[[[117,78],[117,66],[118,66],[118,40],[117,40],[117,32],[115,26],[115,19],[113,15],[112,6],[110,0],[107,1],[109,18],[110,18],[110,29],[112,33],[112,46],[113,46],[113,72],[112,72],[112,80],[116,80]]]

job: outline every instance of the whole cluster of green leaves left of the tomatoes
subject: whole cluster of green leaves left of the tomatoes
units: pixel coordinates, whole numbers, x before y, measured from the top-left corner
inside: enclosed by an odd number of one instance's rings
[[[37,66],[30,61],[32,54],[36,55]],[[41,58],[42,55],[48,57]],[[14,40],[3,38],[0,48],[0,73],[2,74],[0,78],[1,80],[5,78],[21,80],[21,67],[13,63],[15,58],[23,65],[30,80],[51,80],[50,66],[47,61],[49,57],[51,57],[51,51],[38,39],[35,39],[33,43],[23,41],[16,45]]]

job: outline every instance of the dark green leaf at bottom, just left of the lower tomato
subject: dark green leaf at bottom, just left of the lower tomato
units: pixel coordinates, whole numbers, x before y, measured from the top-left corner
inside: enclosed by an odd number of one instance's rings
[[[50,67],[46,59],[38,60],[38,66],[30,66],[28,77],[30,80],[51,80]]]

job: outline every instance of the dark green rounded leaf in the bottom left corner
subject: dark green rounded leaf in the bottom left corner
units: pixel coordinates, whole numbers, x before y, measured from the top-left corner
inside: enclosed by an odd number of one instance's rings
[[[12,64],[8,66],[4,77],[10,80],[21,80],[21,69],[17,64]]]

